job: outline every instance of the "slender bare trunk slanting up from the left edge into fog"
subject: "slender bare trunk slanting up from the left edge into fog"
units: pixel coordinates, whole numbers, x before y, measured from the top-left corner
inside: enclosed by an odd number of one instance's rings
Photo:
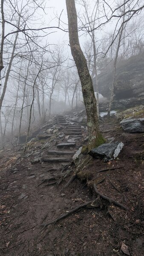
[[[20,17],[21,17],[21,16],[19,16],[17,28],[20,27]],[[7,87],[7,83],[8,83],[8,79],[9,79],[9,73],[10,73],[10,71],[11,71],[12,61],[13,61],[13,59],[14,59],[14,51],[15,51],[15,47],[16,47],[16,43],[17,43],[17,38],[18,38],[18,32],[16,33],[16,36],[15,36],[15,39],[14,39],[14,44],[13,44],[13,49],[12,49],[12,55],[11,55],[11,58],[10,58],[10,61],[9,61],[8,70],[7,70],[7,72],[6,72],[6,78],[5,78],[5,82],[4,82],[4,86],[3,86],[3,92],[2,92],[2,95],[1,95],[1,97],[0,97],[0,110],[1,110],[2,103],[3,103],[3,99],[4,99],[4,96],[5,96],[5,93],[6,93],[6,87]]]

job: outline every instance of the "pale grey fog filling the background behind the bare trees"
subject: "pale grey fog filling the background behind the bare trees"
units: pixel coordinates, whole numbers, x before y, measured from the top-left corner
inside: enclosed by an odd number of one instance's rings
[[[141,96],[135,90],[143,93],[143,86],[139,85],[143,81],[141,67],[138,67],[144,54],[142,1],[128,1],[125,10],[123,1],[75,2],[79,40],[99,112],[108,110],[112,86],[114,100]],[[42,3],[6,0],[3,12],[1,8],[1,20],[2,14],[5,31],[0,63],[0,67],[4,66],[0,72],[1,147],[8,140],[14,143],[17,134],[26,132],[29,119],[32,127],[56,113],[74,111],[79,106],[84,108],[81,82],[69,45],[65,0]],[[3,22],[0,26],[2,28]],[[132,61],[137,72],[133,80],[129,77],[133,72]],[[115,84],[112,82],[114,68]],[[120,77],[119,73],[124,76]]]

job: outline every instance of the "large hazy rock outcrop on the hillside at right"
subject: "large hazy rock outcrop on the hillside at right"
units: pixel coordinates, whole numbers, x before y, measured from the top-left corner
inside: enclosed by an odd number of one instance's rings
[[[112,84],[112,64],[98,76],[98,91],[109,99]],[[94,84],[94,89],[95,84]],[[115,99],[144,97],[144,53],[118,61],[116,70]]]

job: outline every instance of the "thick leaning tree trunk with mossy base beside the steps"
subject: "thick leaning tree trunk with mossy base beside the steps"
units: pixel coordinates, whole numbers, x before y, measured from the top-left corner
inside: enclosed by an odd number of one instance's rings
[[[81,50],[78,39],[78,20],[75,0],[66,0],[69,23],[69,43],[74,58],[78,75],[81,81],[84,105],[86,108],[87,127],[89,133],[89,149],[104,143],[98,123],[97,103],[95,99],[92,79],[86,63],[86,58]]]

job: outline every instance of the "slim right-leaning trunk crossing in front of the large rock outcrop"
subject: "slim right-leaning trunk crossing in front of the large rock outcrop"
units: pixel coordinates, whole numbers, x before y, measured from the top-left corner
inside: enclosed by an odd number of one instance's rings
[[[125,0],[124,0],[124,13],[125,13]],[[123,16],[123,24],[122,24],[121,31],[120,31],[119,38],[118,38],[118,47],[116,49],[115,61],[114,61],[114,65],[113,65],[113,79],[112,79],[112,86],[110,88],[111,96],[110,96],[110,101],[109,101],[109,108],[108,108],[108,112],[107,112],[107,118],[110,117],[110,111],[111,111],[111,108],[112,108],[112,101],[113,101],[113,97],[114,97],[116,63],[117,63],[117,58],[118,58],[119,47],[120,47],[120,44],[121,44],[121,36],[122,36],[123,29],[124,29],[124,16]]]

